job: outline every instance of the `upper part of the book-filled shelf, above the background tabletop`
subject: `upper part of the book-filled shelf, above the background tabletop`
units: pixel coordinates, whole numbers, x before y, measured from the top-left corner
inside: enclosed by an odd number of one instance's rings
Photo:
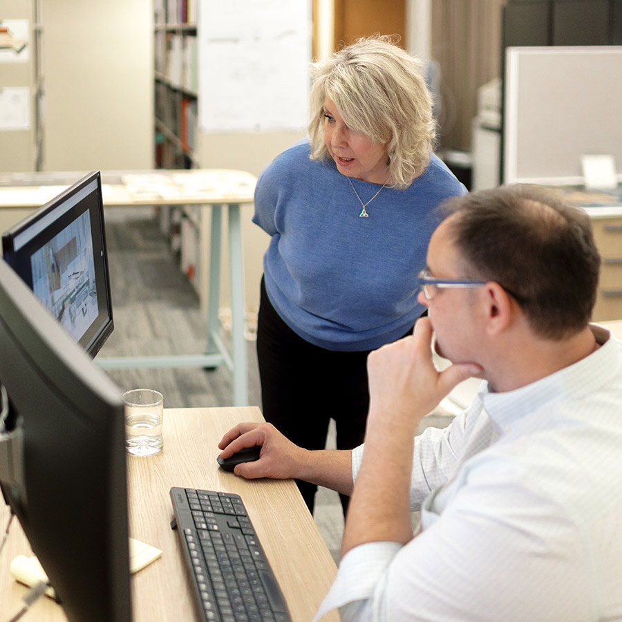
[[[196,168],[198,0],[156,0],[154,9],[156,168]]]

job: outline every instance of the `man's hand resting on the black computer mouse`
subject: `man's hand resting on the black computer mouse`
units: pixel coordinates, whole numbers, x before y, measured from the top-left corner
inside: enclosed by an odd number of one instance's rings
[[[238,464],[234,473],[248,480],[273,478],[285,480],[296,477],[305,462],[308,450],[294,445],[272,424],[241,423],[229,430],[218,443],[220,455],[229,458],[243,447],[261,446],[259,460]]]

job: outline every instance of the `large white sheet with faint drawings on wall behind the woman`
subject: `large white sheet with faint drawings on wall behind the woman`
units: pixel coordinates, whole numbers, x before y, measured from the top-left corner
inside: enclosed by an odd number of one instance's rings
[[[308,125],[311,0],[200,3],[199,124],[207,132]]]

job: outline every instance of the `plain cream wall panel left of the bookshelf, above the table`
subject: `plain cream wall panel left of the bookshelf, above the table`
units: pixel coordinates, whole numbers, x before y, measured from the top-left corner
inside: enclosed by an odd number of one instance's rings
[[[43,4],[45,169],[151,168],[151,0]]]

